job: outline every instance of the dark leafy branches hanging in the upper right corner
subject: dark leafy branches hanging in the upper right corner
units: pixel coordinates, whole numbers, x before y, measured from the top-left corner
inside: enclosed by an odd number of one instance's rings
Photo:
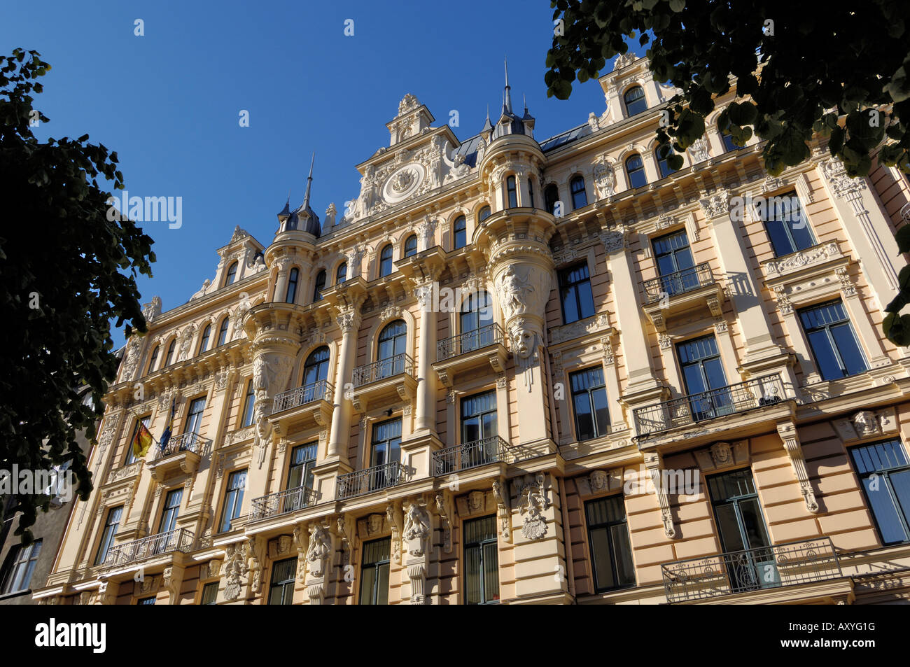
[[[673,168],[703,136],[714,100],[735,86],[718,126],[740,146],[765,143],[773,175],[809,157],[814,133],[851,177],[877,159],[910,172],[910,4],[905,0],[553,0],[547,95],[567,99],[572,82],[600,76],[627,38],[649,45],[654,78],[679,88],[669,126],[657,131]],[[910,231],[896,235],[910,251]],[[888,305],[885,335],[910,345],[910,270]]]

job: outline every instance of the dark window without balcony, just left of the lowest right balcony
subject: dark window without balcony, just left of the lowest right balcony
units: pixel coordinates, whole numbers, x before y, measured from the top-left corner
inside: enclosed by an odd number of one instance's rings
[[[622,496],[609,496],[584,503],[588,520],[588,544],[594,590],[612,591],[635,585],[632,544]]]

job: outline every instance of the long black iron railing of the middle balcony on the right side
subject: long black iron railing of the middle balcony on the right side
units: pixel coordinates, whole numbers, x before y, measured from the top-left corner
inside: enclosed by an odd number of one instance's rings
[[[781,377],[766,375],[635,409],[635,427],[639,435],[648,435],[705,419],[763,408],[782,400],[784,383]]]

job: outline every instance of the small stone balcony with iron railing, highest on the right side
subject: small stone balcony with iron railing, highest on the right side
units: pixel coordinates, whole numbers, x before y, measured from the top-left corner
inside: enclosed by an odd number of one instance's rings
[[[705,309],[715,318],[722,314],[723,289],[708,264],[645,280],[642,291],[645,315],[658,331],[667,330],[668,319],[693,311]]]

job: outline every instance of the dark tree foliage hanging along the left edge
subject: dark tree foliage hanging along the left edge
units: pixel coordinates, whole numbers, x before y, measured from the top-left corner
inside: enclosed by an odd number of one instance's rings
[[[88,135],[35,138],[32,124],[49,119],[32,94],[50,66],[22,49],[0,65],[0,469],[49,470],[68,460],[86,500],[91,476],[76,434],[95,439],[116,376],[111,320],[146,330],[136,271],[151,276],[155,254],[133,222],[107,219],[106,184],[124,187],[115,152]],[[94,406],[80,400],[86,386]],[[49,501],[15,496],[15,534],[31,541],[28,527]]]

